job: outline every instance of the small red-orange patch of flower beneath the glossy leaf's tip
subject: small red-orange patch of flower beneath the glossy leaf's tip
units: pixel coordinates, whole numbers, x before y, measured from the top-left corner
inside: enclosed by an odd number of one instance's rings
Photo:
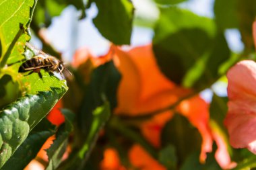
[[[65,117],[61,114],[61,108],[63,108],[63,103],[59,100],[51,112],[47,115],[47,119],[56,126],[59,126],[63,122],[65,122]]]

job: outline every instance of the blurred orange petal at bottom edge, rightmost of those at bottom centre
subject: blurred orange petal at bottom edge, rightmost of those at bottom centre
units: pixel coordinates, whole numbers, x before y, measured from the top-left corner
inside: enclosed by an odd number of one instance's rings
[[[135,144],[129,151],[129,159],[135,169],[141,170],[164,170],[164,166],[153,159],[139,144]]]

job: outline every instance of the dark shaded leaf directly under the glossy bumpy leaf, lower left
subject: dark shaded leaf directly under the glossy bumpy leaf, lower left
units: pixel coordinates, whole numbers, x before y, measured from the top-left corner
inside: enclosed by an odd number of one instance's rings
[[[44,118],[32,132],[30,132],[28,138],[26,138],[1,169],[24,169],[28,163],[36,157],[44,142],[53,134],[55,134],[55,126]]]

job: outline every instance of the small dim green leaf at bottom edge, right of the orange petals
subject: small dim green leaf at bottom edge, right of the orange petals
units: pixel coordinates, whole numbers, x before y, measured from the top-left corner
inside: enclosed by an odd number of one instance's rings
[[[159,153],[159,162],[168,169],[177,169],[176,149],[172,144],[161,149]]]

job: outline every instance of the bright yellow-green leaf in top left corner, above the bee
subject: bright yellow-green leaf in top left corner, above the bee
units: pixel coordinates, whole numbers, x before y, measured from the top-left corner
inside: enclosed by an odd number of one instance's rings
[[[32,17],[34,0],[1,1],[0,3],[0,68],[24,58],[23,46],[30,39],[23,34]],[[14,46],[14,44],[17,44]]]

